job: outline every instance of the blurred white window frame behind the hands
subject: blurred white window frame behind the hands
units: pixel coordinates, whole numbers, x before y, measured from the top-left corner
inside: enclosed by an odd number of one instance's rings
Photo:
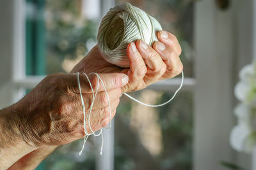
[[[114,6],[114,2],[101,0],[102,15]],[[26,1],[10,0],[4,3],[0,6],[3,13],[0,20],[10,22],[0,27],[0,108],[15,103],[24,96],[22,89],[31,89],[44,78],[25,74]],[[195,94],[193,169],[225,169],[220,166],[220,160],[226,160],[256,170],[256,165],[252,166],[252,162],[256,162],[256,151],[253,154],[255,161],[251,161],[251,155],[235,153],[228,140],[230,130],[236,124],[232,113],[236,104],[233,89],[237,73],[251,62],[252,56],[256,56],[256,48],[253,50],[256,46],[253,31],[256,29],[256,12],[254,17],[250,16],[255,11],[253,9],[256,10],[253,0],[232,1],[227,11],[218,10],[214,1],[195,3],[195,79],[185,78],[182,88]],[[250,38],[252,32],[253,38]],[[179,83],[180,78],[173,78],[149,88],[172,92]],[[97,169],[111,170],[114,131],[105,131],[104,134],[104,155],[98,159]]]

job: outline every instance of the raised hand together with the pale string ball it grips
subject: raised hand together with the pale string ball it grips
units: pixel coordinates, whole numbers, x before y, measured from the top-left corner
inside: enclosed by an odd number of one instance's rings
[[[138,11],[133,13],[134,9]],[[122,10],[126,12],[121,12]],[[145,27],[145,24],[143,24],[140,18],[135,18],[136,21],[139,20],[138,22],[140,24],[134,25],[134,20],[129,19],[129,13],[132,16],[140,15],[140,17],[145,17],[147,19],[146,26],[149,25],[149,27]],[[111,16],[114,16],[112,22],[105,22]],[[116,18],[115,16],[119,17]],[[122,20],[124,21],[123,25]],[[155,26],[150,27],[152,25],[150,23],[153,23]],[[110,34],[111,32],[104,34],[104,32],[108,31],[106,28],[108,24],[110,26],[119,24],[120,27],[111,29],[113,34]],[[122,28],[125,25],[126,27]],[[141,27],[142,25],[144,27]],[[131,34],[129,34],[129,29],[125,29],[127,27],[131,30],[134,29],[134,32],[130,32]],[[122,34],[122,31],[124,31],[124,34]],[[148,34],[150,36],[147,36]],[[110,39],[106,38],[104,40],[102,38],[104,35],[109,36]],[[122,35],[124,38],[122,38]],[[113,44],[109,44],[109,49],[99,50],[99,48],[107,48],[107,44],[111,42],[113,36],[117,38],[113,39]],[[133,41],[135,42],[135,46]],[[103,52],[106,53],[104,54]],[[98,35],[98,45],[94,46],[88,55],[72,69],[72,73],[122,72],[129,76],[129,83],[122,87],[122,92],[132,92],[144,89],[156,81],[173,78],[180,74],[183,69],[182,62],[179,58],[180,53],[179,41],[173,34],[167,31],[161,31],[161,25],[156,19],[150,17],[144,11],[133,7],[131,4],[125,3],[112,8],[102,19]],[[129,68],[122,68],[120,66],[129,66]]]

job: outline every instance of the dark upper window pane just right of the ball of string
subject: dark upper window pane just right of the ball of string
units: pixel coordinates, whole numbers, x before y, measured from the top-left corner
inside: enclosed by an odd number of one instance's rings
[[[129,2],[155,17],[163,29],[172,32],[182,47],[180,59],[184,76],[193,77],[193,0],[116,0],[116,4]]]

